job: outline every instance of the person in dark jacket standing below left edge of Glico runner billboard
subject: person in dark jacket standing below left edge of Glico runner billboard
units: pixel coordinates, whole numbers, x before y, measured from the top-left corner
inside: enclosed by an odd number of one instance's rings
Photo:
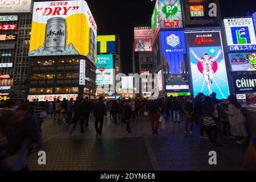
[[[184,113],[184,121],[185,121],[185,136],[188,134],[188,123],[190,124],[189,134],[193,134],[193,115],[194,109],[193,104],[190,97],[187,97],[186,102],[183,104],[183,113]]]

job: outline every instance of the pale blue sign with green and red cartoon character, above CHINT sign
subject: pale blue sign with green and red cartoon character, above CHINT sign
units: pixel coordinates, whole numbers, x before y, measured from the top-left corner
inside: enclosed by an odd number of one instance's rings
[[[232,71],[256,71],[256,53],[229,53]]]

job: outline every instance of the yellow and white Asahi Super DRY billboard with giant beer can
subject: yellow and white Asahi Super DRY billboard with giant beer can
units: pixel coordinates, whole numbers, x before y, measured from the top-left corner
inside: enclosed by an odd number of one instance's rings
[[[85,1],[35,2],[28,56],[83,55],[96,61],[97,25]]]

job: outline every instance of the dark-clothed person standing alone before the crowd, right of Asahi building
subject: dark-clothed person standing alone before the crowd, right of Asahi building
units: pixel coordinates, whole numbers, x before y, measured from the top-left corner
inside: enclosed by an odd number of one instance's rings
[[[98,135],[102,135],[102,128],[103,128],[103,122],[104,122],[104,115],[106,113],[106,106],[105,104],[102,102],[103,98],[100,97],[98,99],[97,104],[94,106],[94,117],[95,117],[95,129],[96,129],[96,137],[98,137]],[[98,128],[98,124],[100,123],[100,129]]]

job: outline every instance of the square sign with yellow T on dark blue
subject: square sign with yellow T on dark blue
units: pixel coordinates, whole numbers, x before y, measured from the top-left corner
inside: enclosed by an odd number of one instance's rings
[[[115,53],[115,35],[98,35],[97,53]]]

